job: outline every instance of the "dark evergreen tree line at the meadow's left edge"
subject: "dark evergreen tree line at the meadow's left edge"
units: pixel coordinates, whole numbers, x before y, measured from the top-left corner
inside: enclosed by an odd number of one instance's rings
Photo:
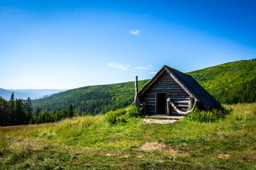
[[[36,108],[33,111],[29,97],[26,100],[14,99],[14,93],[12,93],[9,101],[0,98],[0,126],[53,123],[75,115],[81,115],[81,113],[73,111],[72,104],[69,105],[68,110],[41,111],[40,108]]]

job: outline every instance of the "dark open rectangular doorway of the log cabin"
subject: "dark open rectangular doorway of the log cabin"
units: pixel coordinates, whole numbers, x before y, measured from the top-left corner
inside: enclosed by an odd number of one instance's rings
[[[166,115],[166,93],[156,93],[156,115]]]

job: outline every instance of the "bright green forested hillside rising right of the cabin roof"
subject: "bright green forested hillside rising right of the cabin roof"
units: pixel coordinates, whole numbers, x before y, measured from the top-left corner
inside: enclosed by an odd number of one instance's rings
[[[220,103],[256,101],[256,60],[229,62],[188,74]]]

